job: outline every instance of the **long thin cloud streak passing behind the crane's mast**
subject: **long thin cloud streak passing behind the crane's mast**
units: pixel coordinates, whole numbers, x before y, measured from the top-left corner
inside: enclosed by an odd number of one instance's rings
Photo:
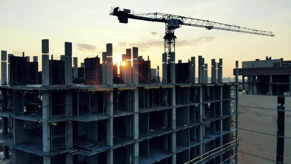
[[[182,46],[195,46],[197,44],[206,43],[213,41],[215,38],[212,36],[207,37],[198,37],[193,40],[176,40],[176,46],[182,47]],[[126,42],[118,42],[117,48],[122,50],[127,47],[139,47],[140,51],[146,51],[150,50],[152,47],[163,47],[164,46],[164,40],[142,40],[135,43],[126,43]]]

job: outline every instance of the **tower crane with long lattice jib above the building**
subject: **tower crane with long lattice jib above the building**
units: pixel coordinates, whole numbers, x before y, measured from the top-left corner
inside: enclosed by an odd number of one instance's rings
[[[228,24],[213,22],[209,20],[202,20],[202,19],[184,17],[184,16],[179,16],[179,15],[172,15],[172,14],[164,14],[164,13],[159,13],[159,12],[138,13],[129,9],[112,7],[109,14],[117,16],[119,23],[128,23],[129,18],[137,19],[137,20],[144,20],[144,21],[149,21],[149,22],[165,23],[166,33],[164,36],[164,40],[165,40],[165,54],[166,54],[167,59],[171,59],[172,52],[174,52],[175,54],[175,39],[177,39],[177,37],[175,36],[174,31],[182,27],[182,25],[202,27],[202,28],[205,28],[206,30],[216,29],[216,30],[232,31],[232,32],[239,32],[239,33],[255,34],[255,35],[261,35],[261,36],[269,36],[269,37],[275,36],[273,32],[255,30],[255,29],[240,27],[236,25],[228,25]]]

